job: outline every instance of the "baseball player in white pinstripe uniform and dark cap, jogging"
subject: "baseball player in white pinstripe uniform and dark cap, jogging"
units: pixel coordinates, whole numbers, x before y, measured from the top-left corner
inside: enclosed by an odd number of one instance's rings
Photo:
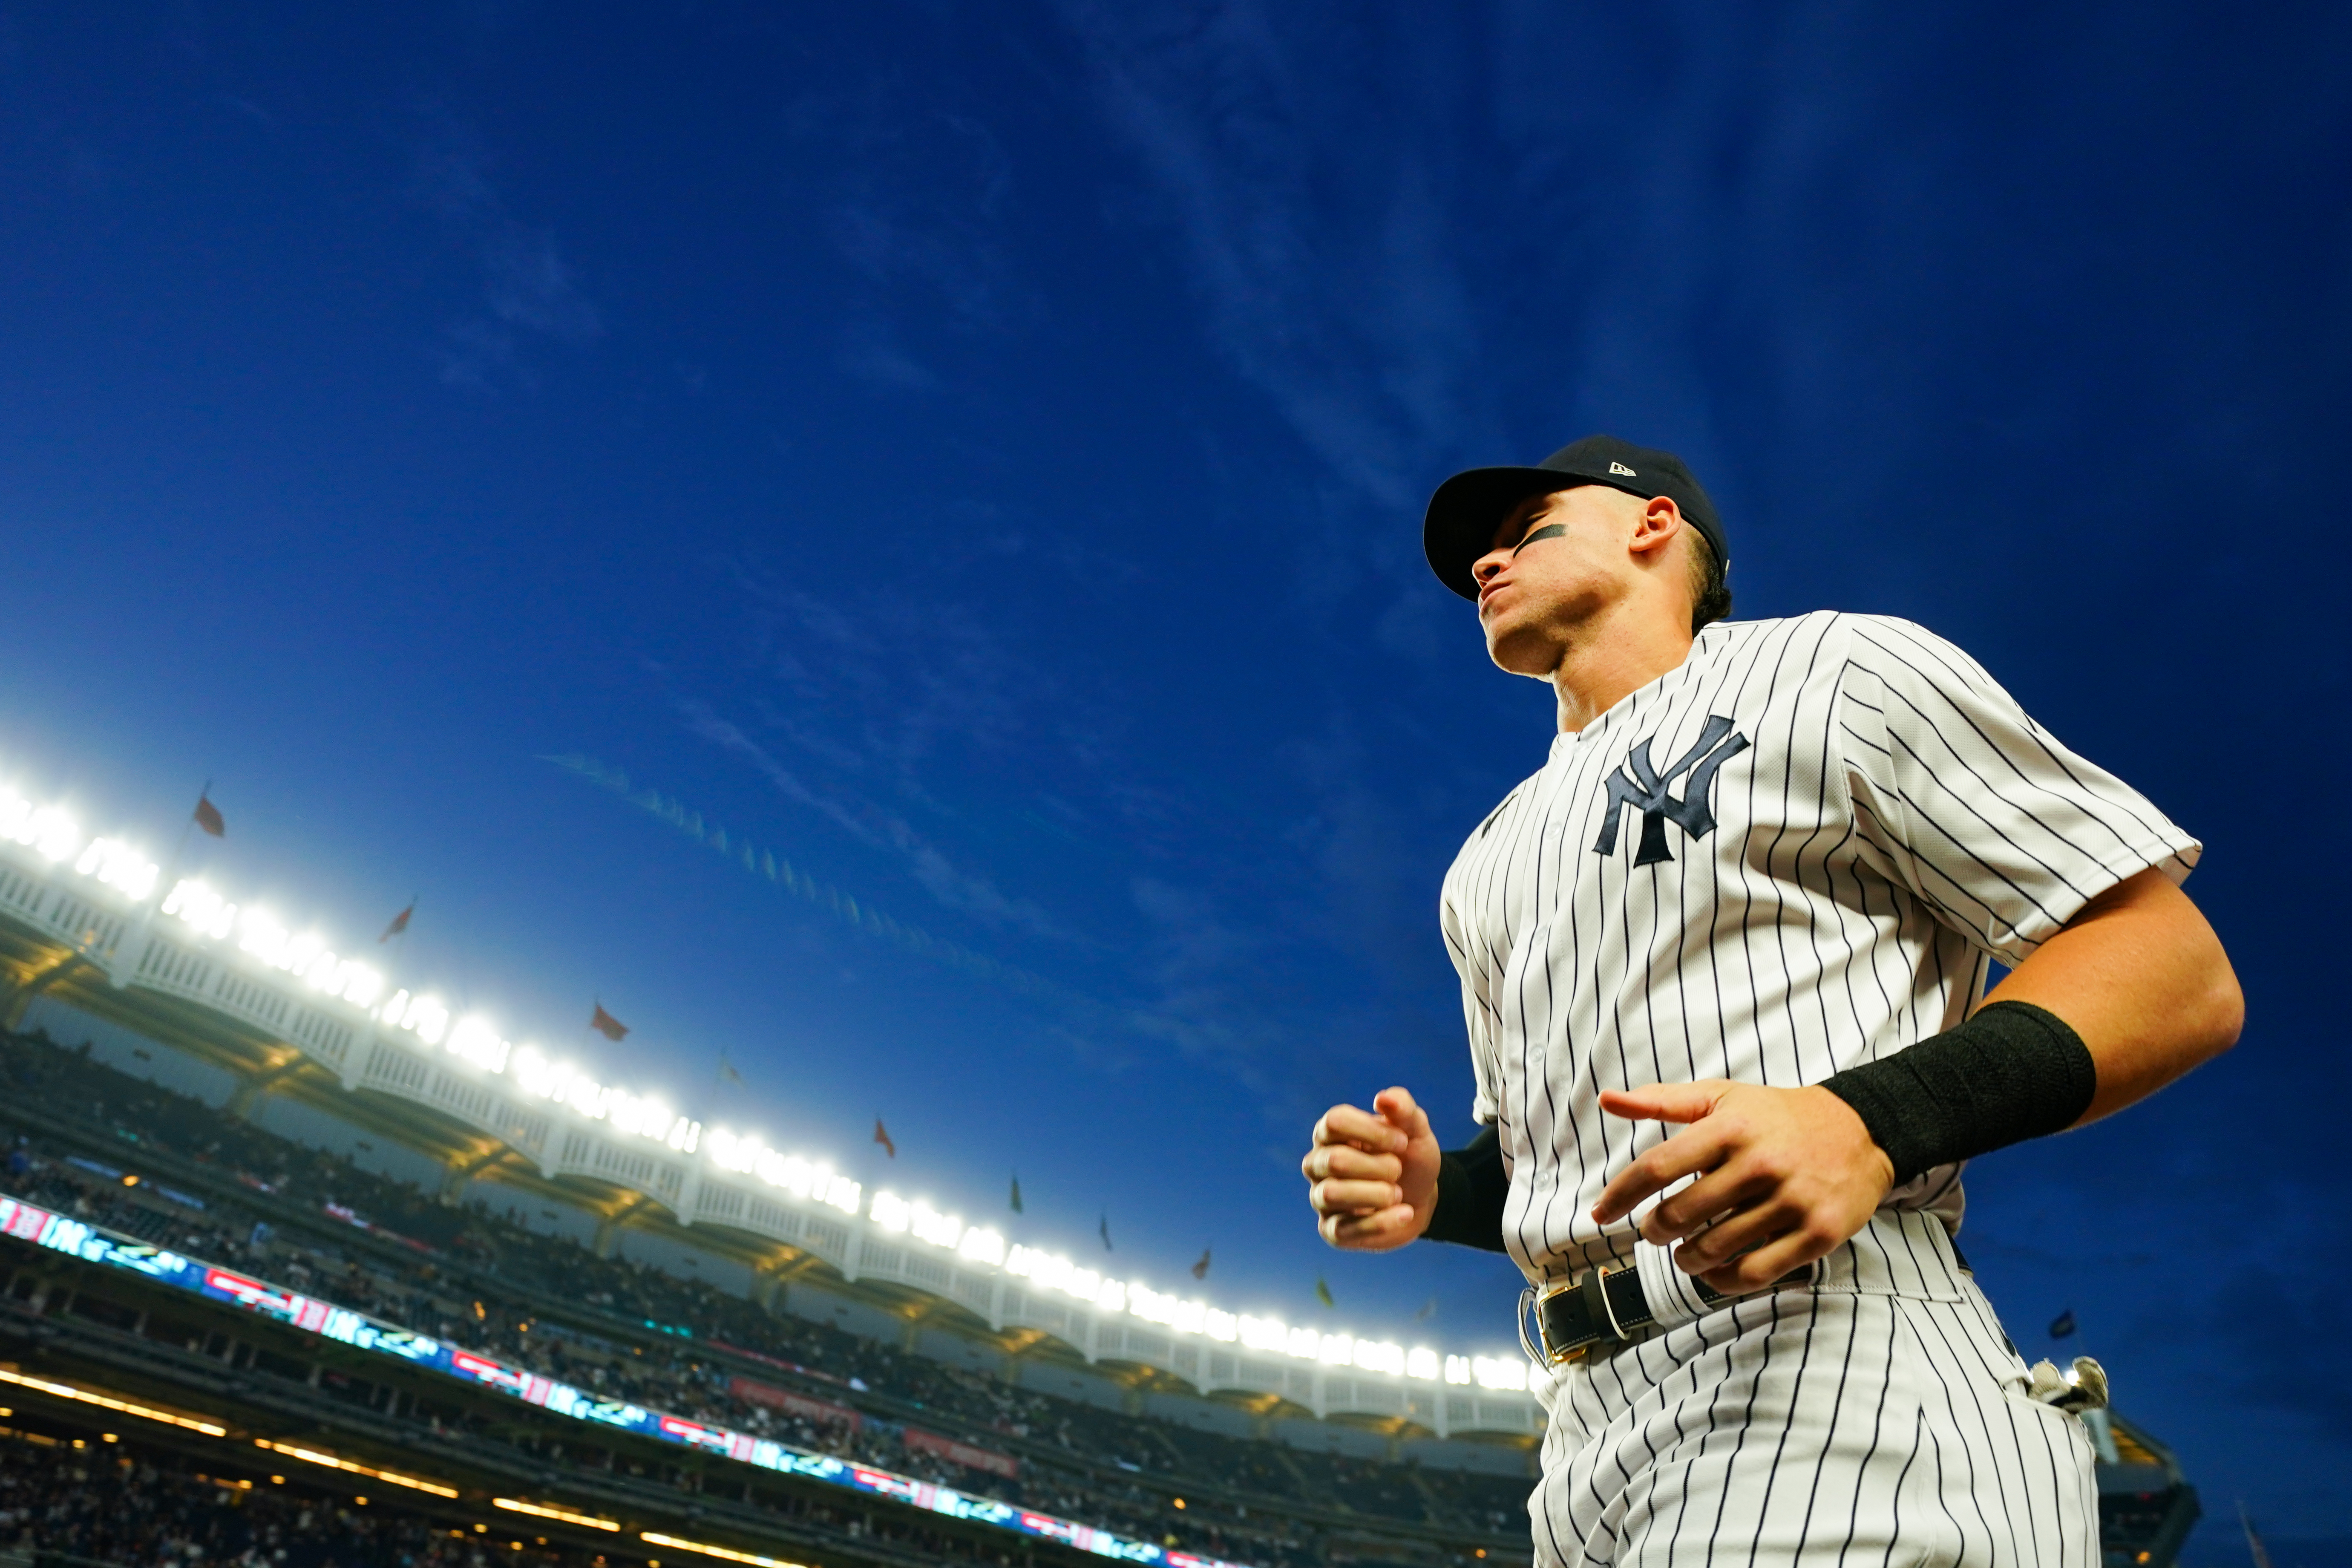
[[[1724,621],[1672,454],[1454,475],[1425,545],[1559,733],[1439,900],[1482,1131],[1327,1112],[1324,1239],[1524,1269],[1538,1563],[2093,1568],[2091,1443],[1952,1246],[1959,1171],[2237,1039],[2199,844],[1917,625]]]

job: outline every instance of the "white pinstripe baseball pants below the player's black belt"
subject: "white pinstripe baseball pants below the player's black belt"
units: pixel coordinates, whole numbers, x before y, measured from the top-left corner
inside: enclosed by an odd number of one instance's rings
[[[1816,1284],[1538,1378],[1536,1563],[2098,1568],[2082,1422],[1931,1215],[1882,1211]]]

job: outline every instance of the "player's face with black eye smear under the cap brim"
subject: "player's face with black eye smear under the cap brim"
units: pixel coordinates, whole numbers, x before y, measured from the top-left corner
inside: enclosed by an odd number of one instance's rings
[[[1642,503],[1606,484],[1522,501],[1470,569],[1486,654],[1512,675],[1548,677],[1625,571],[1625,541]]]

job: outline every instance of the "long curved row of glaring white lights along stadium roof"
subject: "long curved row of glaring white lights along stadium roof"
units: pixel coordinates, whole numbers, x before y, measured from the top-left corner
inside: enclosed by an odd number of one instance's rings
[[[1395,1340],[1364,1340],[1291,1326],[1277,1316],[1235,1314],[1200,1298],[1155,1291],[1141,1279],[1112,1279],[1098,1269],[1080,1267],[1063,1253],[1009,1246],[1000,1232],[964,1225],[960,1215],[943,1213],[922,1199],[906,1199],[889,1190],[868,1194],[861,1182],[840,1175],[823,1161],[779,1152],[750,1133],[706,1128],[656,1095],[600,1084],[572,1063],[550,1058],[536,1044],[515,1044],[487,1013],[456,1018],[435,992],[395,987],[374,964],[339,954],[315,929],[296,931],[275,912],[254,903],[240,905],[198,877],[174,879],[158,900],[162,867],[148,860],[139,844],[122,837],[85,835],[68,806],[35,804],[12,785],[0,785],[0,844],[24,846],[52,867],[71,867],[92,889],[103,889],[127,903],[134,914],[125,936],[143,933],[153,919],[176,919],[186,938],[226,943],[242,961],[287,973],[322,997],[341,999],[379,1030],[407,1032],[426,1046],[440,1046],[482,1074],[503,1077],[522,1095],[602,1121],[616,1133],[661,1143],[677,1154],[708,1159],[722,1171],[750,1175],[795,1199],[826,1204],[851,1218],[863,1213],[868,1225],[953,1253],[967,1267],[1000,1269],[1030,1281],[1030,1288],[1056,1291],[1091,1305],[1096,1312],[1124,1312],[1171,1333],[1242,1345],[1261,1354],[1282,1354],[1319,1366],[1352,1366],[1421,1382],[1526,1392],[1526,1361],[1522,1356],[1442,1356],[1423,1345],[1406,1349]],[[111,959],[113,952],[92,957]],[[111,964],[108,973],[115,973]]]

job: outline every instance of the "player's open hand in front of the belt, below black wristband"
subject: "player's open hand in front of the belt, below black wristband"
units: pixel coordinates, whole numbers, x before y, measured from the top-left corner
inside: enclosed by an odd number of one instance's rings
[[[1618,1171],[1592,1218],[1623,1220],[1684,1175],[1696,1182],[1642,1220],[1642,1239],[1675,1248],[1675,1265],[1724,1295],[1762,1291],[1842,1246],[1870,1222],[1896,1168],[1853,1107],[1828,1088],[1661,1084],[1609,1088],[1602,1110],[1686,1128]]]

